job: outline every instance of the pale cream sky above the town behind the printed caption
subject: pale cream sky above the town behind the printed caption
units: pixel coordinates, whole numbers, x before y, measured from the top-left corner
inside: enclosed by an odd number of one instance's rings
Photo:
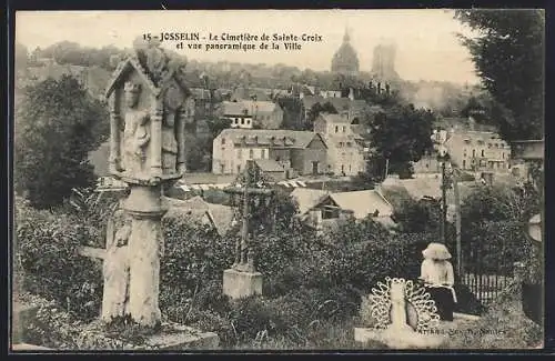
[[[301,42],[301,50],[178,50],[178,41],[163,46],[201,61],[285,63],[330,70],[331,59],[341,46],[345,29],[359,54],[361,71],[372,68],[373,49],[382,42],[396,44],[395,70],[411,81],[435,80],[476,83],[470,53],[456,33],[472,34],[453,19],[452,10],[212,10],[212,11],[18,11],[16,41],[32,50],[59,41],[84,47],[113,44],[130,48],[143,33],[199,33],[204,47],[210,33],[262,33],[321,36],[319,42]],[[229,42],[226,42],[229,43]],[[256,46],[260,41],[254,42]]]

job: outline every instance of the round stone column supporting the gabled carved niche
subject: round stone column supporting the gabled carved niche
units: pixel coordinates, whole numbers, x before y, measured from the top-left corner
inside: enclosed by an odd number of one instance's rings
[[[129,237],[129,313],[141,325],[160,322],[160,257],[163,252],[161,219],[167,212],[162,204],[162,185],[131,185],[123,208],[132,217]]]

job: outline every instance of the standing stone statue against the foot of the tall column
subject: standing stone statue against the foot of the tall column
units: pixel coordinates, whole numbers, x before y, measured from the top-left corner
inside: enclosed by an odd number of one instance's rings
[[[128,240],[130,234],[130,218],[125,215],[123,210],[115,210],[108,221],[107,253],[103,264],[102,319],[105,322],[110,322],[117,317],[123,317],[128,312],[130,278]]]

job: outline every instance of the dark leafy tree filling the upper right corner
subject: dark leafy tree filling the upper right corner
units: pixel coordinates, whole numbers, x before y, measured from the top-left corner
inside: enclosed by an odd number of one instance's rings
[[[482,84],[495,99],[493,119],[507,140],[543,138],[543,10],[457,10],[455,18],[478,32],[462,37]]]

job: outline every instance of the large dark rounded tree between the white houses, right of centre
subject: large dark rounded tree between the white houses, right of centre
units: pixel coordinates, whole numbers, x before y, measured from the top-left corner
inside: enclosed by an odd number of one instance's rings
[[[369,179],[380,180],[384,164],[389,173],[407,177],[412,173],[411,162],[418,161],[432,148],[432,112],[415,109],[412,104],[396,104],[374,117],[370,126],[370,141],[374,147],[367,172]]]

